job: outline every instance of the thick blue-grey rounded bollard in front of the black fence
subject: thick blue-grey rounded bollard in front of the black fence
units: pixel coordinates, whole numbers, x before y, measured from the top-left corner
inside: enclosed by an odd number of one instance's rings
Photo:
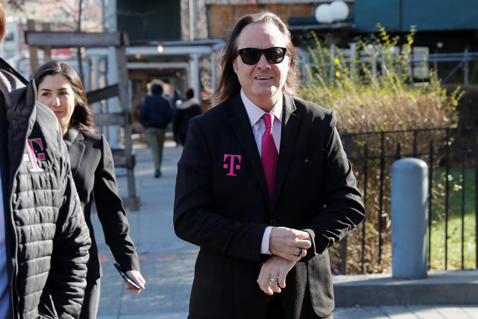
[[[392,274],[396,279],[427,277],[428,166],[419,159],[392,164]]]

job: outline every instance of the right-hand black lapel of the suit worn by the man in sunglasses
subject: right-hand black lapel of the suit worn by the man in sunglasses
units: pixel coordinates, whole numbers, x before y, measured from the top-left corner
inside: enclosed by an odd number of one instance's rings
[[[274,209],[274,205],[277,202],[280,190],[284,184],[292,150],[295,146],[297,129],[299,128],[300,123],[300,118],[294,114],[295,110],[296,107],[292,98],[288,95],[284,95],[279,159],[277,160],[272,209]]]

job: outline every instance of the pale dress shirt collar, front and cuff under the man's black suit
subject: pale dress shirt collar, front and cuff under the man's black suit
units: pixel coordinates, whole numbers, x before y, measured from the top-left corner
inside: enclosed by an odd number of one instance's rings
[[[262,149],[262,135],[265,132],[265,123],[261,117],[267,113],[257,105],[255,105],[251,100],[249,100],[242,89],[240,89],[240,98],[244,104],[245,111],[249,117],[250,126],[252,128],[252,133],[254,134],[255,144],[257,145],[257,150],[259,155],[261,155]],[[282,98],[277,100],[277,102],[272,107],[269,113],[274,115],[274,122],[272,125],[272,137],[274,138],[275,147],[277,148],[277,153],[280,150],[280,134],[281,134],[281,123],[282,123]],[[264,230],[264,235],[262,236],[262,243],[260,245],[261,254],[269,254],[269,236],[272,226],[267,226]]]

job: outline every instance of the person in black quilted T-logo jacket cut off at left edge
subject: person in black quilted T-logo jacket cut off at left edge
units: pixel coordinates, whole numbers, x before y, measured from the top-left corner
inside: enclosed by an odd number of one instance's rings
[[[0,2],[0,41],[5,33]],[[78,318],[91,239],[58,121],[0,58],[0,318]]]

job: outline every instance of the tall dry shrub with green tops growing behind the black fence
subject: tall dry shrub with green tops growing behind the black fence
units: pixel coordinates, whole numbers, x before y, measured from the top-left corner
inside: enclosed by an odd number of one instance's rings
[[[351,135],[352,143],[347,150],[349,157],[352,158],[362,193],[365,188],[365,163],[354,159],[363,157],[365,152],[368,156],[374,157],[366,161],[367,217],[348,236],[347,269],[351,274],[362,271],[363,227],[365,227],[363,271],[365,273],[391,271],[390,165],[396,158],[389,157],[383,160],[381,196],[383,201],[380,213],[382,170],[380,132],[399,131],[383,135],[384,155],[396,154],[397,144],[400,143],[401,155],[406,154],[410,157],[416,150],[417,157],[429,161],[427,154],[430,141],[434,141],[435,149],[443,148],[446,144],[446,131],[420,131],[415,137],[413,132],[406,130],[455,127],[458,122],[456,107],[463,94],[458,88],[447,95],[433,71],[429,73],[428,82],[414,84],[408,76],[408,66],[415,30],[412,29],[406,36],[405,44],[398,48],[399,39],[397,37],[390,39],[382,27],[378,28],[378,37],[358,39],[357,60],[346,59],[337,48],[331,52],[315,38],[316,47],[309,49],[313,62],[305,65],[308,76],[303,79],[304,83],[299,93],[303,99],[332,109],[336,113],[337,128],[343,139],[347,133],[362,133]],[[379,62],[381,74],[373,75],[370,71],[373,61]],[[352,64],[357,71],[351,71]],[[365,132],[375,133],[363,134]],[[438,159],[435,159],[435,163],[436,160]],[[382,251],[379,254],[380,236]],[[340,256],[334,256],[338,251],[337,247],[331,251],[333,262],[334,260],[340,262]],[[339,267],[335,265],[333,268]]]

